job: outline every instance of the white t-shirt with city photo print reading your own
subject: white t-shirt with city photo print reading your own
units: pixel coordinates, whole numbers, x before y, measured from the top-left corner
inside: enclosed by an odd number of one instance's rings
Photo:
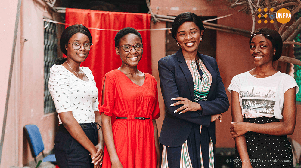
[[[285,73],[277,72],[265,78],[256,78],[249,71],[232,78],[228,91],[239,93],[241,113],[244,118],[274,117],[282,119],[284,93],[299,87],[295,79]]]

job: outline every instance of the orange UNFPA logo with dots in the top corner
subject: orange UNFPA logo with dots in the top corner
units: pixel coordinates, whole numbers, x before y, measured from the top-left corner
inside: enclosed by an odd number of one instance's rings
[[[259,8],[258,11],[261,12],[262,9]],[[265,8],[264,11],[267,12],[268,9]],[[270,23],[274,23],[274,21],[273,21],[272,19],[274,19],[274,18],[276,17],[276,20],[277,20],[279,23],[284,24],[284,23],[289,22],[290,19],[291,19],[291,17],[292,17],[291,14],[290,14],[290,11],[287,10],[287,9],[285,9],[285,8],[279,9],[279,10],[277,11],[276,15],[275,15],[274,13],[272,13],[272,12],[274,11],[274,9],[270,9],[270,11],[271,11],[271,13],[269,13],[268,15],[267,15],[267,14],[264,15],[265,18],[269,17],[269,18],[271,19]],[[265,18],[263,18],[263,16],[262,16],[261,14],[259,14],[258,17],[259,17],[260,19],[265,19]],[[260,24],[261,22],[262,22],[261,20],[258,21],[259,24]],[[265,20],[264,23],[268,23],[268,20]]]

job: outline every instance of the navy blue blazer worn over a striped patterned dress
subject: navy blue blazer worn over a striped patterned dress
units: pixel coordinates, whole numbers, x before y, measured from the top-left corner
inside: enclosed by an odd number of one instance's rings
[[[188,138],[192,125],[198,124],[208,127],[209,136],[215,140],[215,122],[211,122],[211,115],[221,114],[228,110],[229,100],[224,83],[219,74],[216,60],[210,56],[197,52],[199,58],[209,70],[212,83],[206,101],[197,101],[202,111],[188,111],[183,114],[174,113],[182,105],[171,107],[175,103],[171,98],[183,97],[194,101],[193,78],[185,62],[180,48],[175,54],[161,58],[158,62],[160,87],[165,102],[166,114],[161,128],[159,141],[161,144],[178,147]],[[203,75],[199,70],[200,76]]]

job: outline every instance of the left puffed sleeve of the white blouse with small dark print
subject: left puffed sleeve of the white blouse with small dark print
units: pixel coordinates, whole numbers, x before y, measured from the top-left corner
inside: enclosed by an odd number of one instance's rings
[[[50,68],[48,88],[57,113],[72,111],[69,78],[64,68],[57,65]]]

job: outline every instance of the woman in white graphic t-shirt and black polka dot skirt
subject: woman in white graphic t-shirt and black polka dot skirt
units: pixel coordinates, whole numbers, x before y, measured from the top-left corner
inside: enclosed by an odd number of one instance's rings
[[[292,76],[273,67],[282,53],[281,36],[273,29],[259,28],[249,43],[255,68],[234,76],[228,88],[230,132],[238,159],[234,167],[293,167],[287,135],[295,129],[299,87]]]

